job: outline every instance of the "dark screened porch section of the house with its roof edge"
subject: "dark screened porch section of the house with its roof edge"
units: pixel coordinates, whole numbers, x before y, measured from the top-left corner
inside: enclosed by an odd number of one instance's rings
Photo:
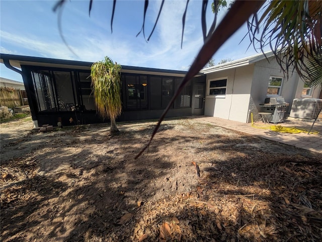
[[[91,90],[92,62],[1,55],[20,72],[34,126],[105,123],[95,110]],[[21,71],[16,68],[21,68]],[[122,66],[123,111],[118,122],[155,119],[162,115],[185,71]],[[181,91],[167,117],[204,114],[205,75],[200,73]]]

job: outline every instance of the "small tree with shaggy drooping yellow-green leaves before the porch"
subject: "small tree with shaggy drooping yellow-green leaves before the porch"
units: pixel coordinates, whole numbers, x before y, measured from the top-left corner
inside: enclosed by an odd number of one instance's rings
[[[110,118],[111,134],[119,132],[115,119],[122,111],[120,71],[121,66],[107,56],[91,67],[96,109],[102,118]]]

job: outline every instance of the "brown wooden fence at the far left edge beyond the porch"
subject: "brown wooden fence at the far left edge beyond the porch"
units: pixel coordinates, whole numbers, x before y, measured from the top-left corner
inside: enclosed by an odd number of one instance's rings
[[[27,98],[25,90],[16,89],[13,87],[0,87],[0,105],[14,108],[25,105],[24,98]]]

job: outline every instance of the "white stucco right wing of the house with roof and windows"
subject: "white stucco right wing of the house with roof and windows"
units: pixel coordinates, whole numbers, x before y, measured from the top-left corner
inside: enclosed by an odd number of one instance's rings
[[[293,99],[319,98],[321,87],[310,87],[298,74],[290,71],[284,76],[271,52],[231,61],[201,70],[206,75],[205,115],[251,122],[261,116],[261,105],[267,97],[284,97],[289,103],[287,116]]]

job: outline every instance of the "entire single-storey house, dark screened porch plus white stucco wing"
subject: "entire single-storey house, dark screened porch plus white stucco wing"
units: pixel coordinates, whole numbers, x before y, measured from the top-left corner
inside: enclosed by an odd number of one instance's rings
[[[266,57],[265,57],[266,56]],[[294,98],[321,95],[296,72],[288,78],[272,53],[258,54],[203,69],[176,98],[167,117],[208,115],[242,123],[259,120],[267,97],[284,97],[289,113]],[[103,123],[91,90],[92,62],[1,54],[1,62],[23,76],[34,126]],[[21,71],[17,68],[21,68]],[[123,111],[118,121],[159,118],[186,71],[122,66]],[[70,122],[69,120],[73,120]]]

